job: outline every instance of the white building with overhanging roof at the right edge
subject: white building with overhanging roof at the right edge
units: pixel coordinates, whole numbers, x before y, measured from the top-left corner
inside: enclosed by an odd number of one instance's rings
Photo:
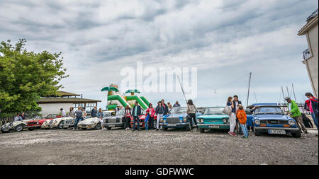
[[[307,38],[308,49],[303,51],[303,64],[306,64],[313,95],[318,98],[318,9],[308,16],[298,35]]]

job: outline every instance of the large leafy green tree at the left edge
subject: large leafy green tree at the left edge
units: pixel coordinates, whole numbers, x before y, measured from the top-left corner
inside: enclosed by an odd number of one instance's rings
[[[28,52],[26,40],[0,44],[0,111],[40,110],[40,96],[57,96],[66,78],[60,53]]]

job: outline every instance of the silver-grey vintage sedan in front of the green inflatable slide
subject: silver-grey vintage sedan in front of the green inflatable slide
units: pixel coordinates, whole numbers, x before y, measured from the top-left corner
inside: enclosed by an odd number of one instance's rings
[[[104,117],[104,127],[108,130],[111,130],[112,127],[123,127],[123,129],[125,129],[126,124],[124,120],[124,112],[125,109],[121,109],[116,112],[116,115],[108,115],[108,117]],[[133,120],[133,117],[131,117],[130,120]]]

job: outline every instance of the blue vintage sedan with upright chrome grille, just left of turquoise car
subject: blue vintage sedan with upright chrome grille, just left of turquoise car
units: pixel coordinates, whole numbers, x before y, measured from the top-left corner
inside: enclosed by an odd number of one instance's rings
[[[201,112],[196,112],[196,118],[200,115]],[[162,126],[164,131],[166,131],[168,128],[186,128],[186,130],[192,129],[186,107],[173,108],[169,115],[164,115],[161,117],[159,120],[159,125]]]

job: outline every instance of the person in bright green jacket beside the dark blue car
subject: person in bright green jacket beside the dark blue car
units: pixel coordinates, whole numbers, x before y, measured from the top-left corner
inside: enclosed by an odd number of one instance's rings
[[[290,116],[293,117],[293,120],[296,120],[298,127],[300,129],[302,129],[302,131],[305,134],[308,134],[308,131],[307,131],[305,125],[303,124],[303,117],[301,117],[301,112],[298,108],[296,101],[291,100],[291,98],[289,98],[289,97],[286,97],[285,100],[288,102],[287,106],[288,106],[288,112],[289,112]]]

